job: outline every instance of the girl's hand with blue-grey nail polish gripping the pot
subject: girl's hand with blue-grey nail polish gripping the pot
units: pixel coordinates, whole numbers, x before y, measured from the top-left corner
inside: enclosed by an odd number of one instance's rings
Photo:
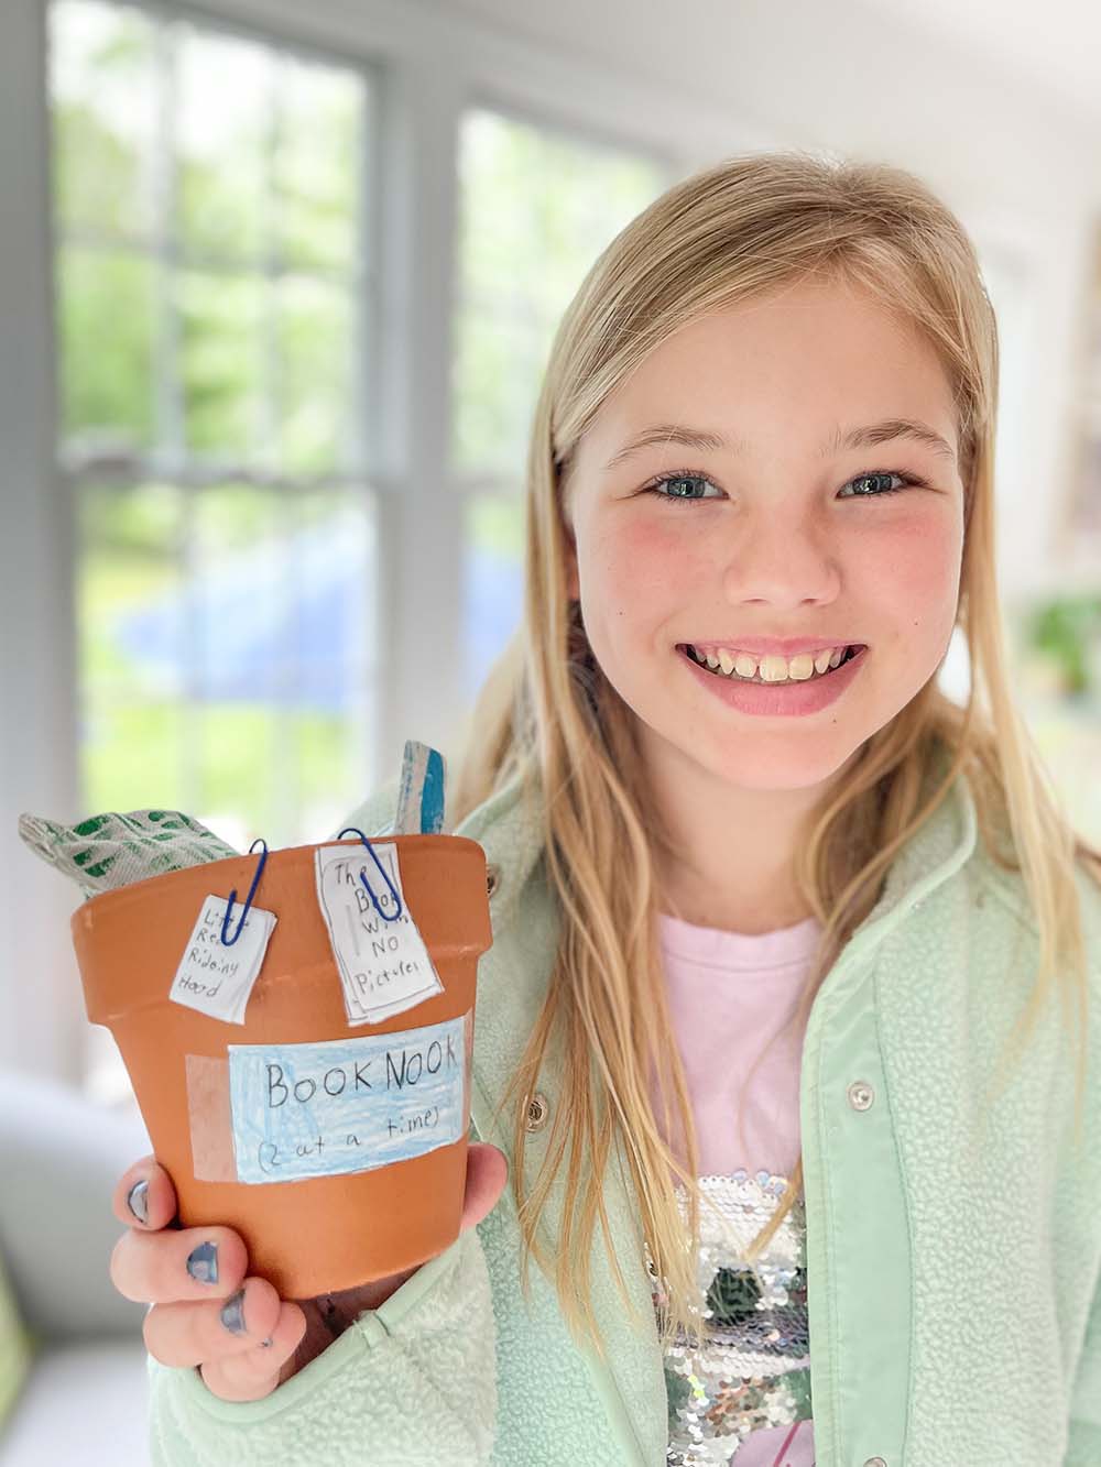
[[[506,1181],[504,1152],[473,1141],[467,1149],[461,1232],[492,1212]],[[145,1182],[144,1222],[126,1201],[139,1182]],[[112,1253],[110,1278],[125,1298],[153,1304],[142,1325],[145,1348],[161,1364],[198,1366],[204,1385],[223,1401],[270,1395],[420,1267],[320,1298],[280,1300],[267,1279],[247,1276],[248,1250],[232,1228],[170,1226],[176,1191],[153,1156],[123,1174],[112,1207],[128,1231]],[[198,1278],[186,1267],[197,1248]]]

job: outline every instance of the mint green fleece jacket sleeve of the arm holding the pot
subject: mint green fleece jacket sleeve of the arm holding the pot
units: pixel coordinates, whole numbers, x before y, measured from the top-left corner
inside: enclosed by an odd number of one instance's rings
[[[382,835],[398,782],[345,826]],[[477,1133],[471,1127],[471,1137]],[[198,1367],[148,1358],[153,1467],[486,1467],[498,1416],[496,1329],[477,1228],[263,1401],[223,1401]]]

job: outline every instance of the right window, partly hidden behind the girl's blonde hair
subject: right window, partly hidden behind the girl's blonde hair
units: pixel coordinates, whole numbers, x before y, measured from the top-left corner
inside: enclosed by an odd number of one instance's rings
[[[614,236],[672,182],[658,160],[483,109],[459,129],[452,462],[468,487],[464,676],[520,618],[523,474],[558,323]]]

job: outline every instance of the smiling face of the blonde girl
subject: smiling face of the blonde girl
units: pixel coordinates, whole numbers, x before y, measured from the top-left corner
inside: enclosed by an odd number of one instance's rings
[[[947,449],[915,437],[841,446],[887,420],[923,424]],[[666,425],[668,439],[669,424],[725,446],[656,442],[619,456],[642,430]],[[810,791],[934,676],[959,600],[957,447],[932,348],[840,285],[799,285],[686,327],[603,403],[564,506],[570,596],[666,786],[691,772]],[[826,707],[760,716],[705,685],[711,673],[681,650],[757,637],[868,653]]]

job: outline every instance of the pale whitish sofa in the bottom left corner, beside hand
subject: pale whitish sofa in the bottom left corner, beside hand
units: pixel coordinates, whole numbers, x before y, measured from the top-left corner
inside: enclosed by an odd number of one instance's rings
[[[0,1071],[0,1253],[41,1338],[0,1427],[0,1467],[147,1467],[145,1306],[107,1273],[123,1225],[112,1193],[148,1155],[135,1109]]]

